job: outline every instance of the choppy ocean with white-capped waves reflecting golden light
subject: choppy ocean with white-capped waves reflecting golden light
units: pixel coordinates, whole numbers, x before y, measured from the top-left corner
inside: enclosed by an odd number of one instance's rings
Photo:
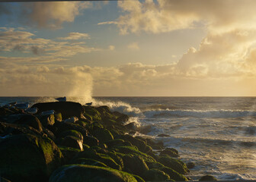
[[[178,149],[194,162],[188,177],[212,174],[218,180],[256,180],[256,97],[68,97],[68,101],[108,105],[130,115],[130,122]],[[52,102],[53,97],[0,97],[8,102]],[[165,133],[170,137],[158,137]]]

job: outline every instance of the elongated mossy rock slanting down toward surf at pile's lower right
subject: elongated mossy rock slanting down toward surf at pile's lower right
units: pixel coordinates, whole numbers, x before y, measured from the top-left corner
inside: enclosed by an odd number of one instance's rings
[[[165,165],[168,168],[172,168],[174,171],[177,171],[180,174],[187,174],[189,172],[189,169],[187,168],[186,164],[175,158],[164,156],[158,158],[158,162],[160,162],[162,165]]]

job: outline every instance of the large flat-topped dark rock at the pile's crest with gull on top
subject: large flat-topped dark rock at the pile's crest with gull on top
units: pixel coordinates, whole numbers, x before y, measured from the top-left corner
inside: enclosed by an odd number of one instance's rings
[[[32,108],[38,108],[38,113],[50,110],[60,112],[62,114],[62,119],[71,118],[73,116],[81,118],[81,115],[84,113],[84,108],[82,107],[82,105],[76,102],[37,103],[33,105]]]

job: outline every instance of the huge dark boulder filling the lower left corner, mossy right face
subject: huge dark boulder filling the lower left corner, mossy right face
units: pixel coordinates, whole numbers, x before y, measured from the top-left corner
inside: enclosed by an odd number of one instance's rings
[[[49,138],[30,134],[0,142],[1,175],[12,181],[46,181],[61,165],[62,152]]]

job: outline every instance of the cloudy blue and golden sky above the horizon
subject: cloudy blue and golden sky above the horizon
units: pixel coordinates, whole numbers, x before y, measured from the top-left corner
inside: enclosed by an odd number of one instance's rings
[[[0,96],[256,96],[256,1],[0,3]]]

